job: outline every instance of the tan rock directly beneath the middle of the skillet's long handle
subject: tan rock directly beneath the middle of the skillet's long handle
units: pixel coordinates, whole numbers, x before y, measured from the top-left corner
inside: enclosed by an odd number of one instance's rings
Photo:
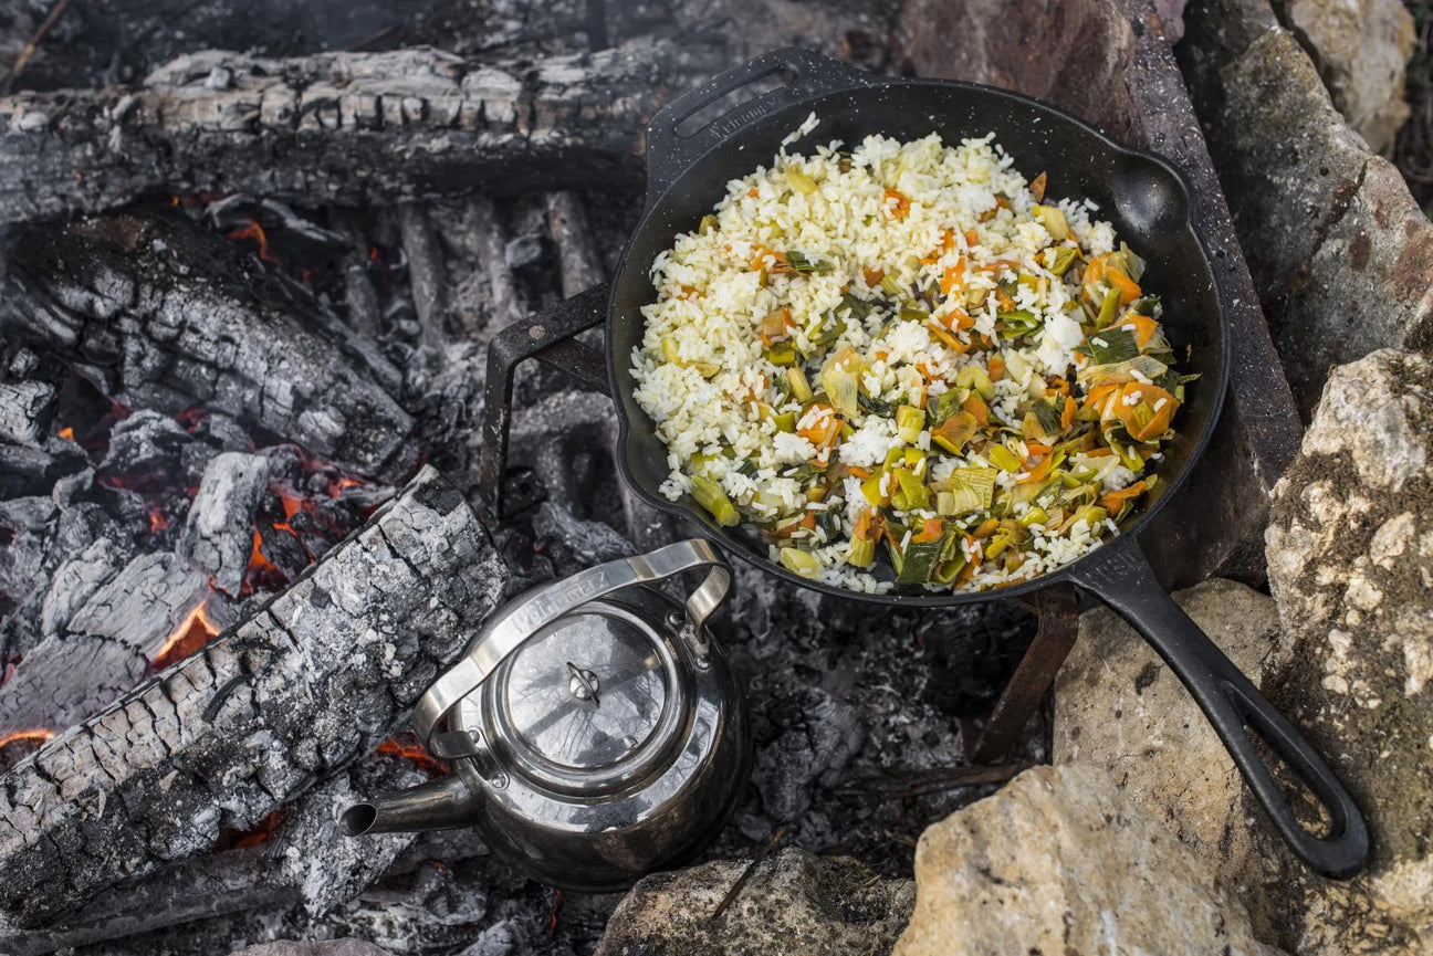
[[[1274,601],[1232,580],[1176,593],[1209,639],[1255,687],[1288,656]],[[1250,861],[1245,817],[1261,813],[1184,684],[1134,628],[1103,608],[1080,616],[1055,684],[1052,757],[1096,767],[1235,886]]]

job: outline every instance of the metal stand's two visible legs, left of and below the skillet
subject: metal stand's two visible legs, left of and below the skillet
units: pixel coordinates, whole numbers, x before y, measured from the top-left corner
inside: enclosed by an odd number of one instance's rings
[[[489,345],[479,483],[483,517],[494,526],[502,522],[510,497],[507,431],[512,426],[513,377],[517,365],[536,358],[588,387],[610,394],[606,357],[576,341],[579,333],[603,321],[608,294],[608,285],[596,285],[540,315],[513,322]],[[1053,585],[1032,598],[1020,599],[1020,603],[1039,615],[1039,631],[979,732],[963,734],[966,757],[976,764],[1002,760],[1019,744],[1030,717],[1055,684],[1055,674],[1075,646],[1079,618],[1073,586]],[[972,730],[973,721],[963,721],[963,725]]]

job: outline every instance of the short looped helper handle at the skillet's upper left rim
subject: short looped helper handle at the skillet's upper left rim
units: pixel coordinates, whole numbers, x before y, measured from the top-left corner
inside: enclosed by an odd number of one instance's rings
[[[784,86],[732,106],[696,130],[682,133],[676,130],[678,126],[701,109],[745,86],[775,75],[790,79]],[[831,57],[795,46],[765,53],[742,66],[718,73],[696,89],[682,93],[663,106],[648,125],[648,205],[656,196],[666,192],[694,162],[742,126],[810,96],[870,86],[871,82],[873,79],[866,73],[845,66],[840,60],[833,60]],[[752,159],[752,162],[757,162],[757,159]]]

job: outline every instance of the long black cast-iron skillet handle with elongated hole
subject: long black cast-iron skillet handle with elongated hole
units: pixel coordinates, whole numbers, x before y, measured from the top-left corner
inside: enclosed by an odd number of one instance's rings
[[[1348,790],[1308,741],[1165,593],[1134,536],[1116,537],[1101,546],[1089,562],[1070,570],[1076,585],[1132,623],[1184,681],[1294,853],[1327,877],[1354,876],[1369,859],[1369,824]],[[1310,834],[1294,818],[1245,725],[1257,731],[1323,803],[1333,820],[1328,837]]]

